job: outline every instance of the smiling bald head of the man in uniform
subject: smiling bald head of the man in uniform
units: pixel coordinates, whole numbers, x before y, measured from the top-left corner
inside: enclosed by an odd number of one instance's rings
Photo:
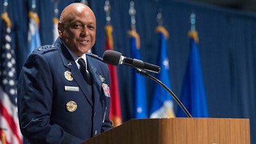
[[[80,57],[95,44],[95,15],[85,4],[72,3],[61,13],[58,31],[70,51]]]

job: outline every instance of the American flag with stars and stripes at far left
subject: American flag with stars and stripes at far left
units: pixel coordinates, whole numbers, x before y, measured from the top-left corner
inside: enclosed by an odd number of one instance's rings
[[[17,112],[17,74],[15,52],[12,47],[10,19],[2,15],[0,43],[0,128],[1,142],[22,143]],[[4,134],[4,136],[3,136]]]

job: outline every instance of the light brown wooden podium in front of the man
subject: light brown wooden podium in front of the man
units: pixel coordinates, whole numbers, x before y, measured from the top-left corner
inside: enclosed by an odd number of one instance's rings
[[[248,118],[132,119],[83,144],[250,144]]]

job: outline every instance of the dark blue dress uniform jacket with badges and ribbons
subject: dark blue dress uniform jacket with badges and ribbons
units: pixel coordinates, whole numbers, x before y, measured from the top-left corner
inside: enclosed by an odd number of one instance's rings
[[[82,143],[112,128],[108,66],[93,54],[86,58],[92,87],[60,38],[35,49],[24,63],[18,112],[20,130],[30,143]]]

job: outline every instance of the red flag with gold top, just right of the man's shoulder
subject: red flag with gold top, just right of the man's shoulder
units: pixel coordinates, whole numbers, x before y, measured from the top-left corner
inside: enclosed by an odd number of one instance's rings
[[[106,30],[106,50],[113,50],[113,38],[112,38],[112,26],[105,26]],[[109,74],[110,74],[110,113],[109,118],[113,122],[113,127],[116,127],[122,124],[122,114],[121,114],[121,106],[120,106],[120,96],[119,96],[119,87],[118,87],[118,79],[116,67],[113,65],[108,65]]]

